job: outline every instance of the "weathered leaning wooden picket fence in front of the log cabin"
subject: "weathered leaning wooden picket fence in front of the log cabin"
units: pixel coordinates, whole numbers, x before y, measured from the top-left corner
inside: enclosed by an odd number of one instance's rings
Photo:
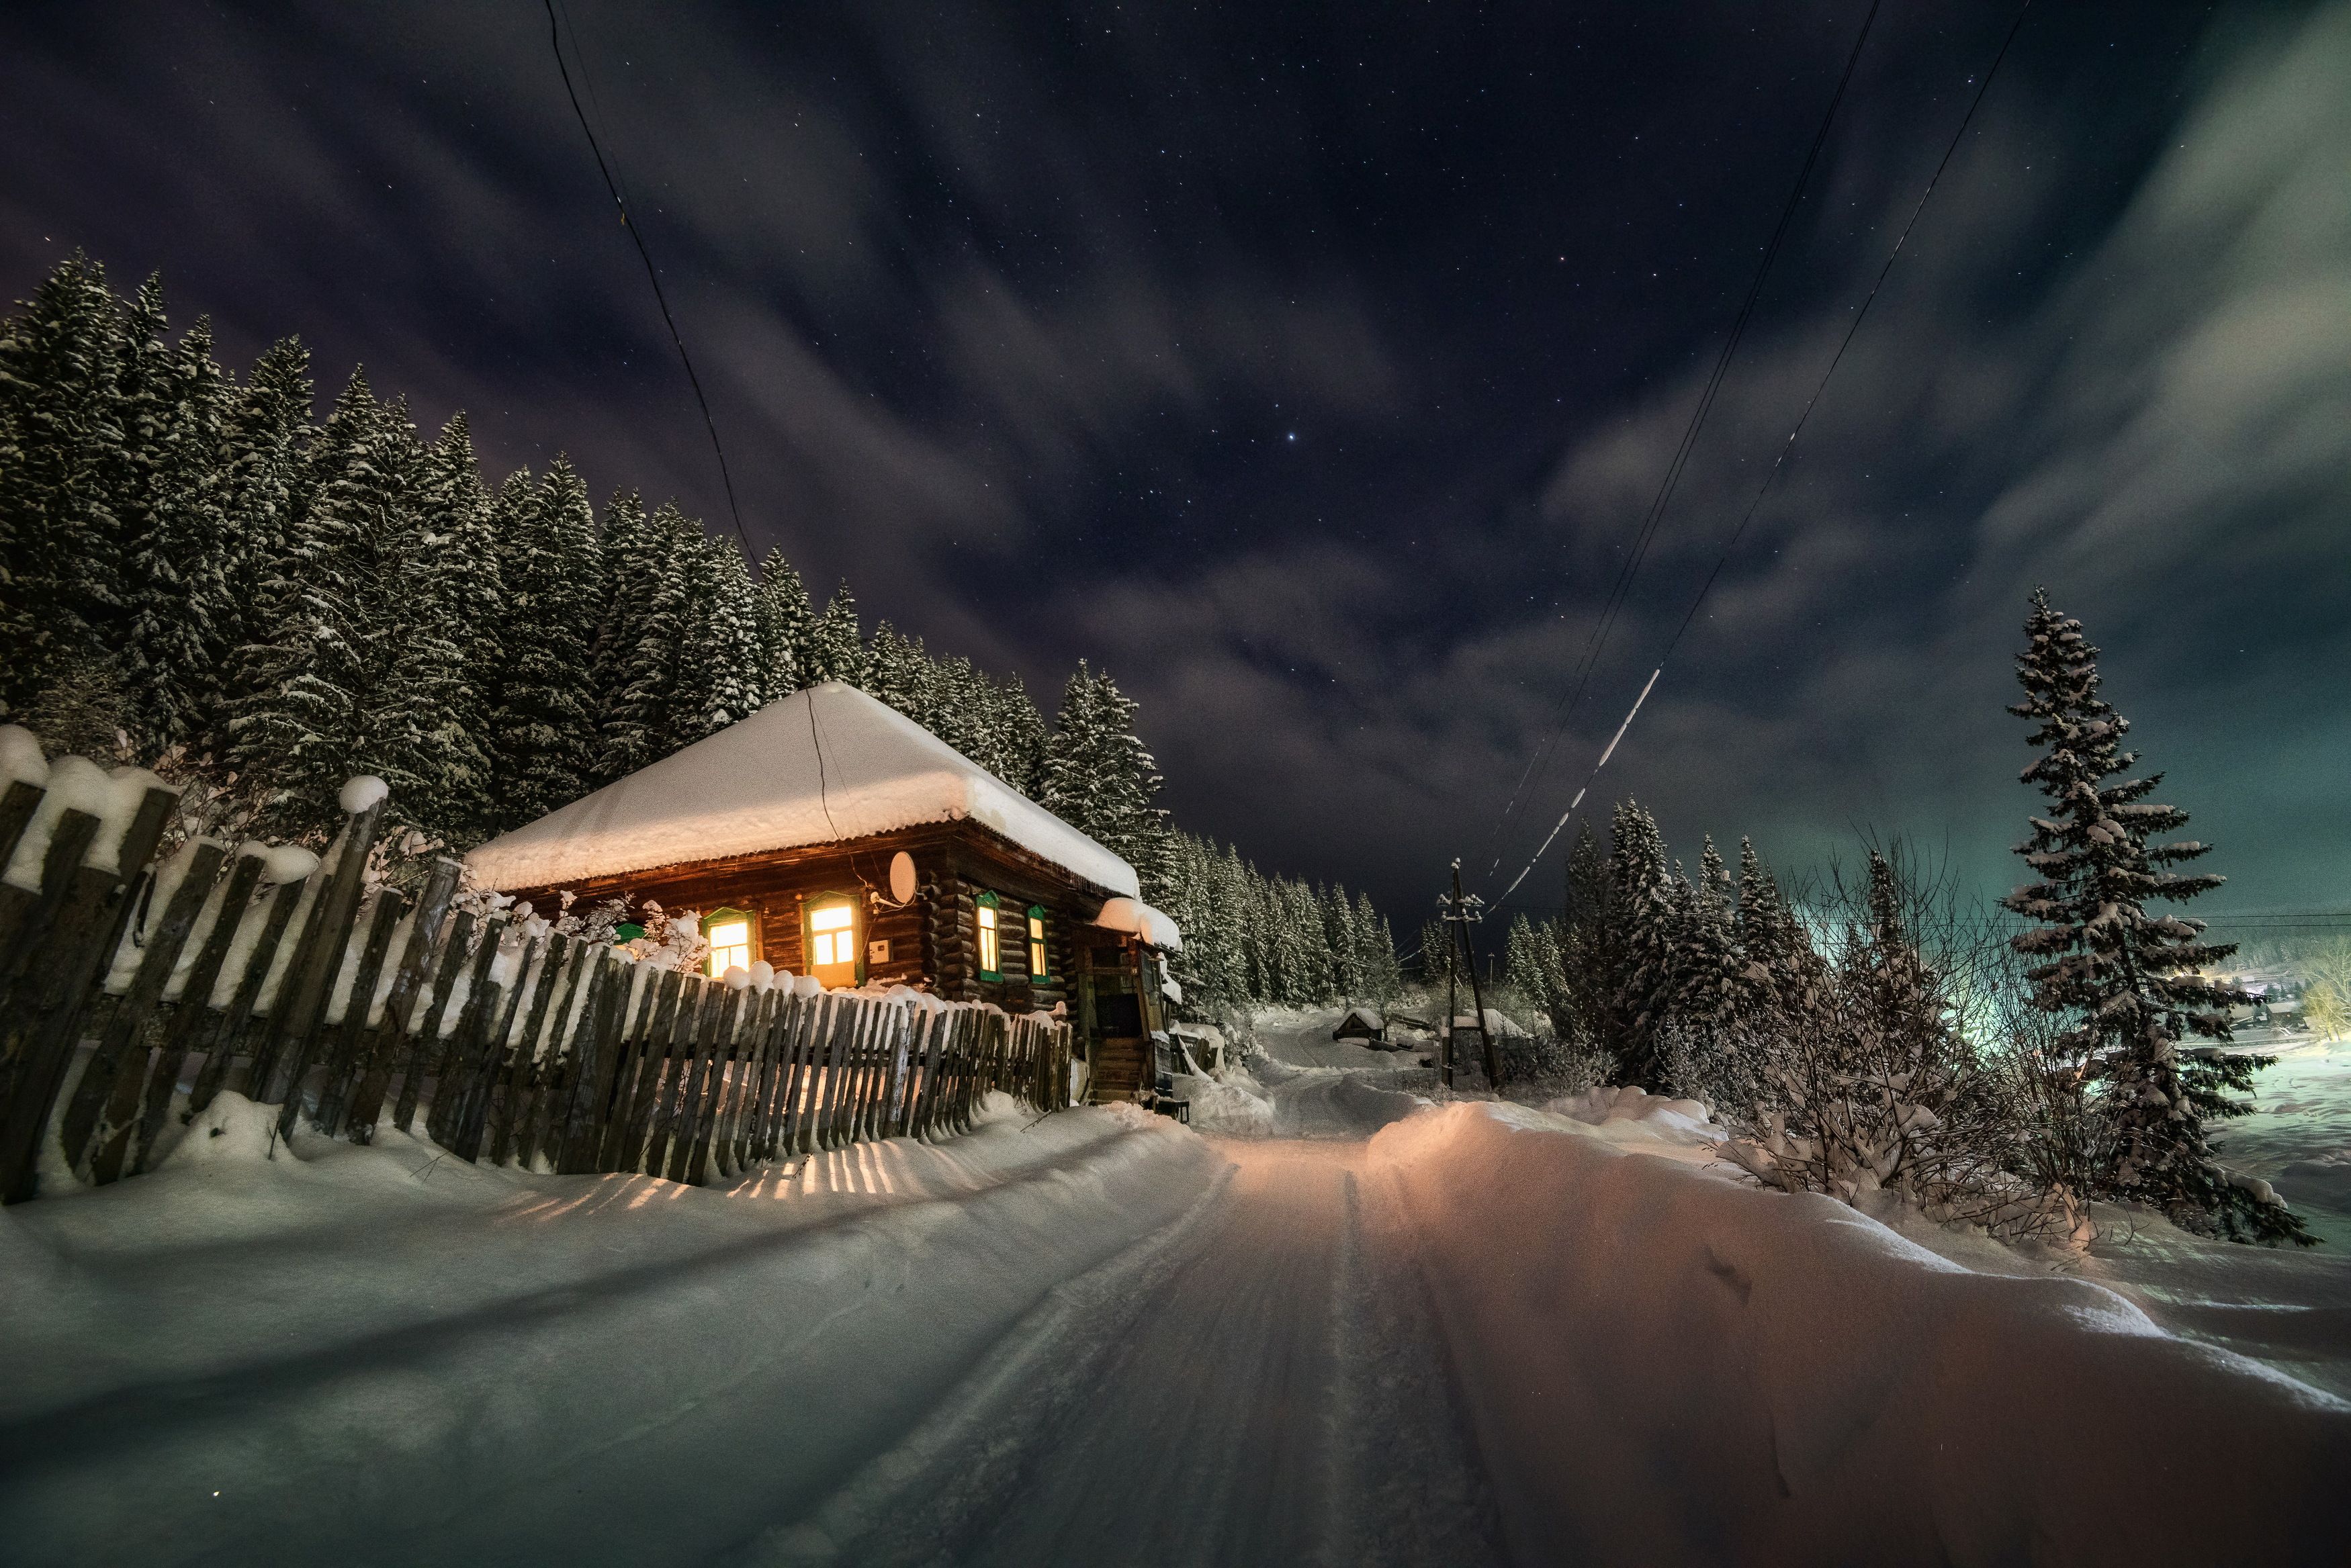
[[[282,1105],[284,1135],[308,1121],[364,1143],[390,1105],[393,1126],[423,1117],[461,1159],[679,1182],[962,1131],[987,1091],[1070,1103],[1070,1030],[1046,1016],[628,961],[458,907],[454,860],[414,898],[369,886],[383,799],[324,863],[270,884],[270,856],[209,842],[153,865],[169,790],[127,823],[42,816],[42,797],[21,780],[0,795],[0,867],[31,825],[49,830],[40,889],[0,882],[12,1204],[40,1190],[45,1145],[78,1180],[113,1182],[148,1166],[174,1110],[195,1117],[221,1091]],[[115,832],[125,870],[103,867]],[[125,943],[136,959],[118,959]]]

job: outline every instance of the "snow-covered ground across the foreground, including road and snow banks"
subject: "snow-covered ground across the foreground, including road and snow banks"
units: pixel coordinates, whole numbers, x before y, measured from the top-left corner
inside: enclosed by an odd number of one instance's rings
[[[2335,1258],[1897,1234],[1733,1178],[1688,1103],[1432,1107],[1328,1027],[1260,1020],[1194,1131],[1002,1100],[734,1192],[270,1159],[223,1098],[160,1173],[0,1215],[5,1556],[2351,1547]]]

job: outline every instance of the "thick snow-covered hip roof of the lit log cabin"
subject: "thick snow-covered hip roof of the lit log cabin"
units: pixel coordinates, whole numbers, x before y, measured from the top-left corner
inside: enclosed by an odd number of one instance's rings
[[[1136,867],[886,703],[825,682],[482,844],[491,889],[560,886],[926,823],[980,823],[1112,893]]]

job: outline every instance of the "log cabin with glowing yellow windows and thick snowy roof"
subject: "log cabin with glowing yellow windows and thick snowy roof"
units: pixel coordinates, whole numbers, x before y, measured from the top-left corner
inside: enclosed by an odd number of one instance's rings
[[[710,973],[912,985],[1065,1009],[1091,1095],[1147,1086],[1159,954],[1183,933],[1136,867],[856,686],[825,682],[475,849],[552,910],[698,910]]]

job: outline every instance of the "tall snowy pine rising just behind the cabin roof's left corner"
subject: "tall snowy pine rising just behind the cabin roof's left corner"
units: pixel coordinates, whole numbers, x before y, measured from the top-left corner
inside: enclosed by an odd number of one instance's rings
[[[501,827],[520,827],[576,799],[595,771],[590,651],[602,552],[588,487],[564,456],[527,505],[494,515],[505,658],[489,722],[491,809]]]

